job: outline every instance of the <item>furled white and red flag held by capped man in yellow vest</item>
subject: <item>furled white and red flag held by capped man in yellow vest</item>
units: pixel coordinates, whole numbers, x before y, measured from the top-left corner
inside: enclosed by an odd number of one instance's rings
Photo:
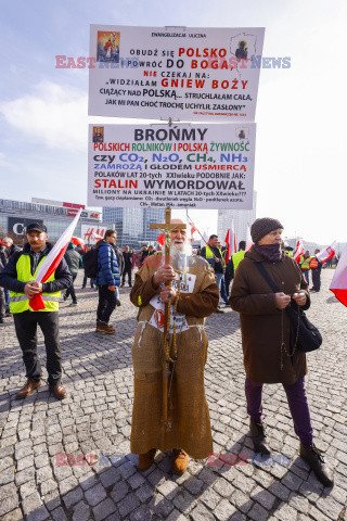
[[[35,282],[47,282],[51,275],[55,271],[56,267],[59,266],[60,262],[64,256],[64,253],[66,252],[68,243],[72,240],[80,213],[81,208],[77,212],[74,220],[68,225],[64,233],[57,239],[54,246],[44,258],[43,263],[39,266]],[[33,296],[33,298],[29,300],[29,306],[34,312],[44,309],[44,303],[41,293],[37,293]]]

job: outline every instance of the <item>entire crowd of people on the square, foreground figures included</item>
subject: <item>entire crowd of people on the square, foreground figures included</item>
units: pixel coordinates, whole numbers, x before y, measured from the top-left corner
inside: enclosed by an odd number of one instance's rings
[[[43,283],[35,279],[52,249],[46,226],[27,227],[23,250],[14,246],[9,237],[2,240],[1,319],[13,315],[27,378],[16,399],[25,398],[41,385],[38,326],[44,336],[49,389],[57,399],[67,396],[61,383],[59,302],[65,290],[64,301],[70,296],[70,305],[78,304],[74,288],[78,270],[85,268],[82,288],[90,279],[91,287],[99,291],[98,334],[115,333],[111,316],[120,305],[118,289],[127,279],[130,301],[139,308],[132,347],[131,450],[139,455],[139,470],[146,470],[157,450],[171,449],[172,469],[181,474],[189,456],[202,459],[213,452],[204,389],[208,347],[204,322],[214,313],[223,313],[222,305],[231,306],[241,320],[245,402],[255,452],[271,452],[262,421],[262,385],[282,383],[300,442],[300,456],[324,485],[332,486],[332,471],[313,443],[305,391],[306,355],[293,344],[290,318],[283,313],[288,306],[308,309],[310,292],[320,291],[319,251],[314,256],[305,252],[297,264],[282,241],[281,223],[262,218],[252,226],[252,249],[246,252],[246,243],[241,241],[237,252],[227,262],[226,246],[217,234],[211,234],[195,252],[182,221],[172,219],[171,225],[169,262],[153,245],[144,245],[139,253],[128,245],[124,250],[117,247],[117,232],[110,229],[95,246],[86,251],[70,242]],[[261,270],[266,275],[261,276]],[[272,291],[269,277],[280,288],[278,291]],[[33,309],[30,302],[37,294],[43,306]]]

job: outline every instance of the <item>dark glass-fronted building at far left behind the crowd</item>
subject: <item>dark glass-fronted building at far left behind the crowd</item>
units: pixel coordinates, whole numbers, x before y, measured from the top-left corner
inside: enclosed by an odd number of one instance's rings
[[[0,238],[9,236],[15,244],[24,245],[25,227],[30,223],[42,223],[47,227],[49,241],[55,242],[74,219],[69,213],[70,208],[63,206],[0,199]],[[113,221],[100,223],[98,219],[81,217],[74,236],[81,236],[81,225],[114,228]]]

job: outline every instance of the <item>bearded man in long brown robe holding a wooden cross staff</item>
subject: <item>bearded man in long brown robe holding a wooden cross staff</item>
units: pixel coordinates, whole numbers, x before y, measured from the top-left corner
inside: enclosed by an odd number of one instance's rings
[[[171,219],[171,224],[182,224]],[[171,231],[170,264],[156,253],[137,272],[130,293],[139,307],[132,346],[134,401],[131,452],[139,470],[146,470],[156,450],[172,449],[174,472],[182,474],[189,456],[203,459],[213,452],[204,389],[207,358],[205,317],[216,312],[219,292],[208,263],[192,256],[185,230]],[[167,281],[172,287],[165,285]],[[164,308],[170,304],[168,421],[163,421]],[[175,328],[174,328],[175,325]],[[175,332],[176,331],[176,332]]]

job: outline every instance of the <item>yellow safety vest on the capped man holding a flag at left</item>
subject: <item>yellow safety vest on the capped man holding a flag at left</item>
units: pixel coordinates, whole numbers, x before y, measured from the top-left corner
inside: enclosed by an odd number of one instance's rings
[[[16,263],[16,270],[17,270],[17,280],[21,282],[29,282],[30,280],[35,280],[37,270],[44,260],[44,257],[39,262],[38,267],[34,275],[31,275],[30,270],[30,255],[21,255],[17,263]],[[51,282],[55,280],[55,274],[53,272],[51,277],[47,280],[47,282]],[[59,310],[59,300],[61,296],[60,291],[54,291],[53,293],[41,293],[43,302],[44,302],[44,309],[39,309],[40,312],[57,312]],[[29,306],[29,298],[25,293],[17,293],[15,291],[10,291],[10,312],[11,313],[23,313],[23,312],[33,312],[31,307]]]

